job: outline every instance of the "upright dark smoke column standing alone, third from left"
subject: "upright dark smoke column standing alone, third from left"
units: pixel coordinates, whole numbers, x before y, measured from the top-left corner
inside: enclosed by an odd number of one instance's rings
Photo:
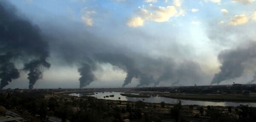
[[[93,74],[90,65],[87,63],[84,63],[83,67],[78,69],[78,72],[81,75],[81,78],[79,78],[80,88],[89,85],[95,79],[95,75]]]

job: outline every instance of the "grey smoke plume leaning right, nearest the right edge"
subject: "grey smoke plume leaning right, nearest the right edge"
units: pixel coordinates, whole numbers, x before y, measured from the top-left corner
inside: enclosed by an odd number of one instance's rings
[[[215,74],[211,84],[241,77],[245,69],[245,63],[254,58],[256,58],[256,42],[250,42],[246,47],[222,51],[218,55],[221,71]]]

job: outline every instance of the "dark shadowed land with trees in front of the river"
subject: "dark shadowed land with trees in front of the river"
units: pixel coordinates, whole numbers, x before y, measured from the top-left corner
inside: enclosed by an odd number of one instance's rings
[[[222,107],[114,101],[72,97],[66,94],[69,90],[60,91],[63,90],[2,90],[0,105],[28,122],[49,122],[50,117],[63,122],[122,122],[123,119],[130,119],[130,122],[254,122],[256,119],[256,108],[247,105]]]

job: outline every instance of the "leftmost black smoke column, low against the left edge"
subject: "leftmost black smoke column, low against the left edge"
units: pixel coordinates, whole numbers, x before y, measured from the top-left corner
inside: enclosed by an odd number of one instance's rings
[[[20,77],[20,72],[15,67],[15,65],[10,62],[12,55],[7,53],[5,55],[0,55],[0,89],[8,85],[8,81],[12,82],[13,79]]]

